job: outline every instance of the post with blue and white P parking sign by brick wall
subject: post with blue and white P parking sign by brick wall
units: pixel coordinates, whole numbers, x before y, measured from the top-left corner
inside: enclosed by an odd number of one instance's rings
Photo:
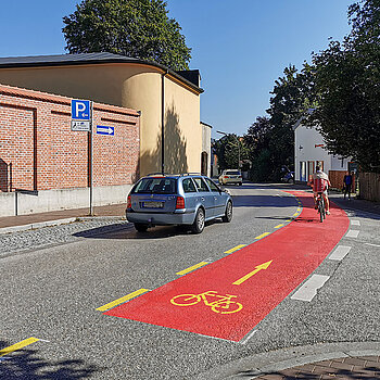
[[[93,180],[92,180],[92,153],[93,153],[93,126],[92,126],[92,101],[72,99],[72,130],[89,132],[89,190],[90,190],[90,215],[93,215]]]

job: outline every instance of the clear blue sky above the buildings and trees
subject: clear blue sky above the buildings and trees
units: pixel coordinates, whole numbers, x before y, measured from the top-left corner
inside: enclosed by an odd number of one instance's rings
[[[1,1],[0,56],[62,54],[62,17],[76,0]],[[201,119],[216,130],[243,135],[265,115],[283,68],[311,61],[328,38],[350,31],[354,0],[167,0],[192,48],[204,93]]]

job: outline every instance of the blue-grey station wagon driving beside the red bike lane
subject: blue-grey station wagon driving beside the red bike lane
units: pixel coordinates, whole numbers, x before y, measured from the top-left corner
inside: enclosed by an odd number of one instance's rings
[[[231,221],[232,199],[206,176],[153,174],[130,190],[126,216],[139,232],[157,225],[188,225],[201,233],[207,220]]]

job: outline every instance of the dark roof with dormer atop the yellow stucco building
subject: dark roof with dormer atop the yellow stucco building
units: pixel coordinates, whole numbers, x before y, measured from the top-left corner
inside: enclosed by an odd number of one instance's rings
[[[186,72],[175,72],[159,63],[143,61],[135,58],[129,58],[113,53],[80,53],[80,54],[60,54],[60,55],[34,55],[34,56],[5,56],[0,58],[0,68],[14,68],[14,67],[37,67],[37,66],[64,66],[64,65],[84,65],[84,64],[97,64],[97,63],[143,63],[151,66],[160,67],[169,74],[178,77],[181,81],[187,83],[198,91],[203,92],[199,87],[199,80],[195,83],[192,76],[197,74],[190,74],[188,77]],[[199,71],[189,71],[189,73]],[[180,73],[185,73],[181,75]]]

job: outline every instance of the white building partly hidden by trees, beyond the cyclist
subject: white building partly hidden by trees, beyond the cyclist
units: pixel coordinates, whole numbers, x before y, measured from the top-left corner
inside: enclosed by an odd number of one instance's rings
[[[329,154],[319,131],[315,127],[304,125],[303,121],[304,117],[301,117],[293,126],[295,180],[307,181],[315,172],[315,167],[319,165],[329,175],[330,180],[337,178],[337,183],[332,186],[339,187],[340,179],[349,169],[351,160]]]

